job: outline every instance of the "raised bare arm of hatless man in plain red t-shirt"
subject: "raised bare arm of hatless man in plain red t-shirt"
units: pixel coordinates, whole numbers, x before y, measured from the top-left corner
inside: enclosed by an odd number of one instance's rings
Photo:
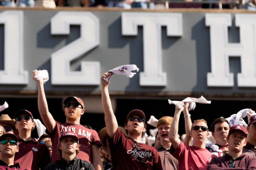
[[[183,102],[180,102],[181,106],[184,105]],[[183,111],[183,107],[179,109],[176,105],[175,107],[175,114],[174,119],[172,120],[170,132],[169,132],[169,140],[172,143],[172,146],[177,149],[177,147],[180,145],[180,139],[178,138],[178,122],[180,119],[180,114]]]

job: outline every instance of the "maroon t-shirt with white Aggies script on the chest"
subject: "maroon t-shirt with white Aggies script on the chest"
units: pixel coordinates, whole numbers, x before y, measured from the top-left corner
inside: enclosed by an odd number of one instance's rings
[[[138,143],[117,128],[108,144],[114,170],[162,170],[159,153],[153,146]]]

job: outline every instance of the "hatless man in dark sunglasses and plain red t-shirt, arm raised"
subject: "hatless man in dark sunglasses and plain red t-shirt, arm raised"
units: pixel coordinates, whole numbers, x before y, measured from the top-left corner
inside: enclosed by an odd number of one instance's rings
[[[204,119],[200,119],[195,120],[192,124],[190,136],[193,137],[193,146],[182,142],[177,137],[178,122],[180,114],[184,109],[184,103],[180,102],[180,104],[183,107],[179,109],[178,104],[176,105],[174,119],[172,120],[169,132],[169,140],[172,143],[170,153],[178,160],[178,169],[180,170],[206,170],[210,160],[213,157],[217,157],[205,148],[205,141],[209,136],[207,122]],[[190,118],[190,114],[186,114],[184,117]]]

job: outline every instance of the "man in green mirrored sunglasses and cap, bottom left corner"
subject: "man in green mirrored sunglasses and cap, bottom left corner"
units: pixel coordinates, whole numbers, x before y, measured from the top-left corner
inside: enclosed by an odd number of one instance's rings
[[[7,133],[0,137],[0,170],[22,170],[19,163],[14,162],[15,153],[19,151],[16,135]]]

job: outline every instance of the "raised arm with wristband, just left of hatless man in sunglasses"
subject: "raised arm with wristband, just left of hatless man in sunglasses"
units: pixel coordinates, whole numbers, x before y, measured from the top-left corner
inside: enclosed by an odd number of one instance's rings
[[[183,140],[184,143],[187,143],[188,145],[191,144],[191,140],[192,140],[192,136],[190,136],[190,131],[191,131],[191,126],[192,126],[192,121],[191,121],[191,118],[190,118],[190,115],[189,115],[189,112],[188,112],[188,107],[189,107],[190,103],[187,103],[185,106],[184,106],[184,109],[183,109],[183,114],[184,116],[186,116],[184,119],[185,119],[185,130],[186,130],[186,136]],[[187,116],[189,115],[189,116]]]

